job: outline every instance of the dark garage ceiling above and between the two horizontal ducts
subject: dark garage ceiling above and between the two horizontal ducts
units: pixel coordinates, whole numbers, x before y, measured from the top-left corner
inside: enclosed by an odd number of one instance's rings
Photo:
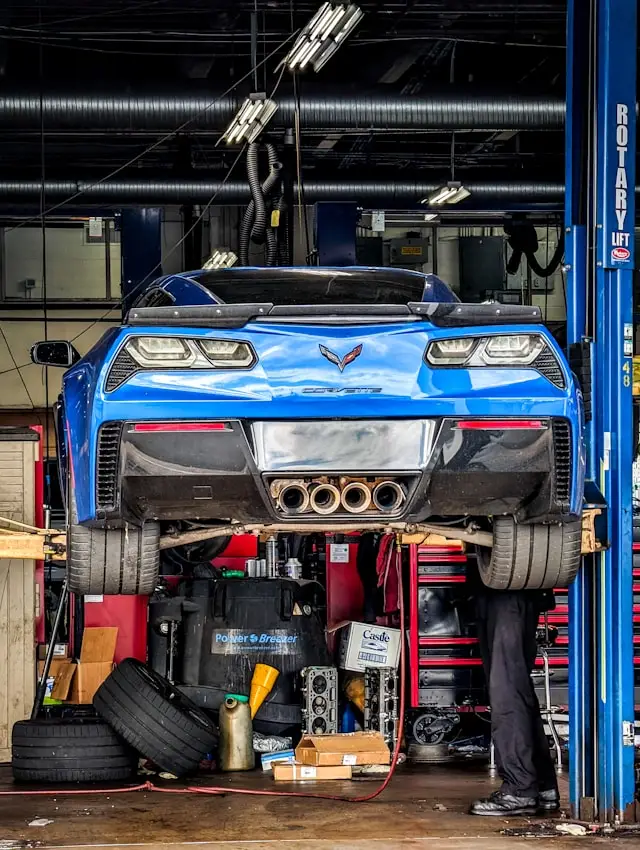
[[[318,5],[315,0],[9,0],[0,10],[3,94],[218,93],[251,70],[252,14],[260,61],[292,28],[304,25]],[[359,28],[320,74],[300,79],[301,98],[357,97],[362,92],[390,100],[460,92],[503,101],[511,94],[515,99],[516,92],[517,97],[563,96],[564,2],[392,0],[360,5],[365,17]],[[261,89],[273,86],[275,64],[274,59],[259,69]],[[251,89],[249,80],[238,93]],[[293,95],[288,75],[278,94]],[[44,131],[48,179],[99,178],[159,135],[136,126],[61,129],[53,121],[45,121]],[[188,127],[120,176],[213,178],[235,158],[234,152],[215,147],[218,135]],[[451,148],[449,130],[428,126],[303,129],[303,177],[438,183],[449,177]],[[0,179],[39,179],[41,153],[37,127],[25,130],[0,116]],[[456,176],[470,182],[561,181],[562,130],[460,129],[454,158]]]

